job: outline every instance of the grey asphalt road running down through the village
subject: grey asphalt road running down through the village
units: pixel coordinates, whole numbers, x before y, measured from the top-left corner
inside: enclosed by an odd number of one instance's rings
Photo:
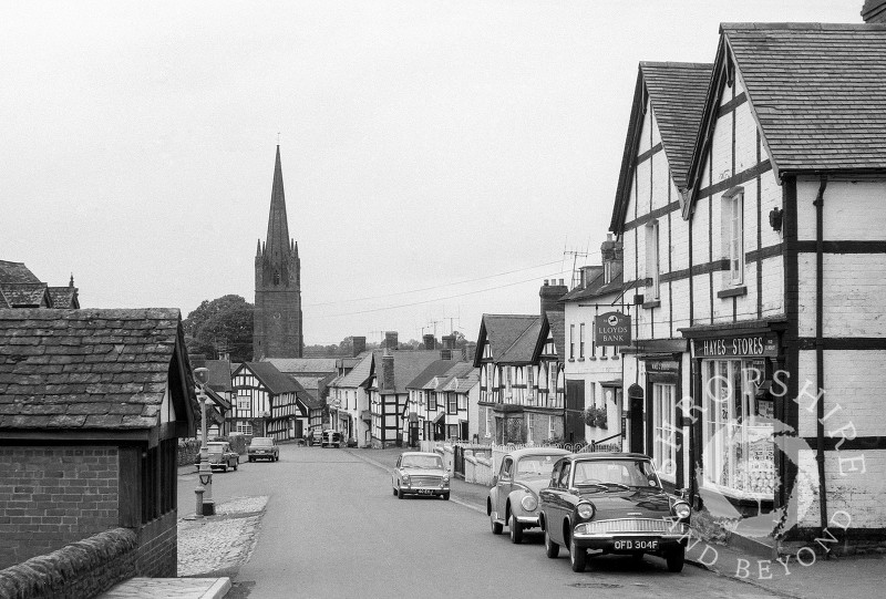
[[[219,503],[269,497],[258,545],[229,597],[773,597],[692,566],[672,575],[653,557],[639,567],[629,558],[599,558],[575,574],[565,551],[545,556],[540,535],[527,533],[523,545],[513,545],[507,535],[493,535],[477,509],[436,498],[398,500],[390,474],[363,454],[373,457],[369,450],[284,445],[277,463],[216,474]],[[181,506],[194,505],[195,484],[193,474],[179,477]]]

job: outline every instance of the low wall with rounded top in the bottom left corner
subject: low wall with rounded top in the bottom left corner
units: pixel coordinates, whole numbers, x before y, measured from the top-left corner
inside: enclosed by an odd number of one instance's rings
[[[4,599],[95,597],[136,576],[136,535],[114,528],[0,570]]]

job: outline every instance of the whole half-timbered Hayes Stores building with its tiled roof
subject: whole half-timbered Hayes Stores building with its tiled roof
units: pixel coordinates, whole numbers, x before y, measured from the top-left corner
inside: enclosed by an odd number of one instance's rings
[[[673,323],[691,341],[693,484],[783,509],[783,533],[883,538],[886,25],[720,32]]]

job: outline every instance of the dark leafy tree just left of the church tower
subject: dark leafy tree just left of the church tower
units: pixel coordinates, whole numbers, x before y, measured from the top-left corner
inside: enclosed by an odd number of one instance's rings
[[[182,323],[190,353],[215,359],[227,348],[233,362],[253,359],[253,317],[255,308],[240,296],[204,300]]]

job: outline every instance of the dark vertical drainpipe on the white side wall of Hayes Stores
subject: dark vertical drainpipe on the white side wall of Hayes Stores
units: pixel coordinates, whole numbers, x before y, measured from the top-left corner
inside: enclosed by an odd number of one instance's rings
[[[815,373],[816,394],[824,389],[824,190],[827,175],[822,175],[815,197]],[[818,505],[821,507],[822,537],[827,528],[827,488],[824,479],[824,397],[816,402],[816,444],[818,463]],[[825,559],[830,557],[825,554]]]

